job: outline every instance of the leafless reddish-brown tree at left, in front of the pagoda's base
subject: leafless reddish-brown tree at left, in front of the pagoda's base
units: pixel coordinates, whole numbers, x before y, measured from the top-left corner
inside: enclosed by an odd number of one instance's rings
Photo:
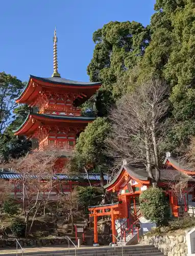
[[[53,180],[56,161],[64,155],[63,150],[48,148],[42,152],[34,152],[26,157],[13,160],[9,167],[19,174],[15,186],[20,187],[23,215],[26,223],[26,236],[31,232],[34,220],[42,205],[50,199],[51,191],[59,187]],[[29,218],[32,217],[29,227]],[[28,229],[29,228],[29,229]]]

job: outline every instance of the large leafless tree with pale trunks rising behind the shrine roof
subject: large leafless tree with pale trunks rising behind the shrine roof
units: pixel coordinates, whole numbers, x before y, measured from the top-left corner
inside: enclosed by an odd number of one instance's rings
[[[110,113],[109,154],[129,164],[142,162],[154,186],[160,179],[159,144],[165,133],[162,119],[168,109],[167,95],[163,81],[150,80],[125,95]]]

